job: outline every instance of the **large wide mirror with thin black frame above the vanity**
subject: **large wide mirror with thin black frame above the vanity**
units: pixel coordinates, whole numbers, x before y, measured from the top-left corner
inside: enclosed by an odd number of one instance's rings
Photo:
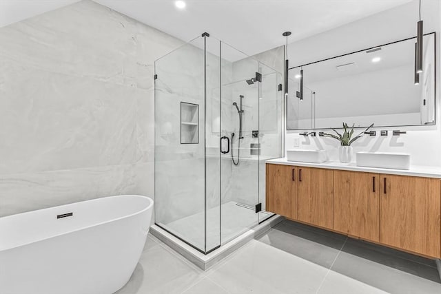
[[[343,121],[356,127],[435,125],[435,33],[424,35],[419,75],[415,43],[409,38],[291,67],[287,129],[328,129]]]

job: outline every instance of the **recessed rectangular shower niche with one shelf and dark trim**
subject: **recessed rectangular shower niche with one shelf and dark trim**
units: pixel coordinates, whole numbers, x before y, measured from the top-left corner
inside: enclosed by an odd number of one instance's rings
[[[199,105],[181,102],[181,144],[199,143]]]

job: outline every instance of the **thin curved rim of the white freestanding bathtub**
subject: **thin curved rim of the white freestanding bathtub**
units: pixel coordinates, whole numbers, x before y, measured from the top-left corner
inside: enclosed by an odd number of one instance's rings
[[[72,202],[72,203],[68,203],[68,204],[61,204],[61,205],[54,206],[54,207],[46,207],[46,208],[43,208],[43,209],[35,209],[35,210],[32,210],[32,211],[25,211],[25,212],[22,212],[22,213],[12,214],[10,216],[3,216],[3,217],[0,218],[0,221],[4,220],[6,218],[17,217],[17,216],[20,216],[20,215],[25,214],[25,213],[32,213],[34,211],[49,210],[49,209],[53,209],[55,207],[65,207],[65,206],[68,206],[68,205],[77,204],[77,203],[83,203],[83,202],[94,202],[94,201],[103,200],[103,198],[121,198],[121,197],[127,197],[127,196],[130,196],[130,197],[133,197],[133,198],[147,198],[147,200],[149,200],[150,203],[147,205],[147,207],[145,207],[145,208],[143,208],[143,209],[141,209],[139,211],[136,211],[135,213],[127,214],[127,216],[121,216],[119,218],[112,218],[111,220],[107,220],[105,222],[96,222],[95,224],[92,224],[92,225],[88,225],[88,226],[81,227],[79,229],[74,229],[74,230],[71,230],[71,231],[65,231],[63,233],[51,235],[50,237],[46,237],[46,238],[36,238],[35,240],[32,240],[31,242],[19,242],[17,244],[12,245],[12,246],[5,246],[4,248],[0,247],[0,253],[3,252],[3,251],[11,250],[11,249],[17,249],[17,248],[19,248],[21,246],[26,246],[26,245],[34,244],[34,243],[41,242],[41,241],[44,241],[44,240],[49,240],[49,239],[52,239],[52,238],[57,238],[57,237],[59,237],[61,235],[68,235],[70,233],[75,233],[77,231],[83,231],[83,230],[86,230],[86,229],[90,229],[92,227],[98,227],[98,226],[101,226],[103,224],[108,224],[108,223],[111,223],[111,222],[116,222],[118,220],[123,220],[125,218],[131,218],[132,216],[139,215],[139,214],[141,214],[141,213],[143,213],[145,211],[148,211],[149,209],[152,209],[153,204],[154,204],[154,200],[152,198],[148,197],[148,196],[141,196],[141,195],[134,195],[134,194],[104,196],[104,197],[94,198],[94,199],[90,199],[90,200],[83,200],[83,201],[77,201],[77,202]],[[150,224],[151,224],[151,222],[152,222],[152,220],[150,220]],[[150,229],[150,224],[149,224],[149,226],[147,228],[147,231],[148,231],[148,229]]]

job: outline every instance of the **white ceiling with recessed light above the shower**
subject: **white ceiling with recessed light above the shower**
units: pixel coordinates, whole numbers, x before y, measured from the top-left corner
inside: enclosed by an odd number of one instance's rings
[[[0,27],[77,0],[0,0]],[[94,0],[189,41],[209,32],[249,55],[289,43],[412,0]]]

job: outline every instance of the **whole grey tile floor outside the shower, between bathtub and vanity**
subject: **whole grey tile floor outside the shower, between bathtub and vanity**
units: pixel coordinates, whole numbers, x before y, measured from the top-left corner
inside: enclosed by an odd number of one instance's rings
[[[117,294],[441,293],[435,262],[284,221],[202,271],[149,235]]]

